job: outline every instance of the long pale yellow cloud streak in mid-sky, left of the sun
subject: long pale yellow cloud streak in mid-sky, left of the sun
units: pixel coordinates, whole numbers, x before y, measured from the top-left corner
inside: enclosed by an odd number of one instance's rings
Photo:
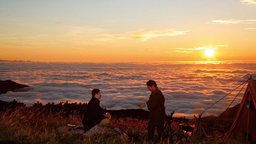
[[[145,42],[145,41],[151,40],[153,38],[157,38],[157,37],[183,35],[183,34],[186,34],[186,32],[189,32],[189,30],[173,31],[173,30],[141,29],[139,31],[127,32],[127,33],[122,34],[122,35],[104,34],[104,36],[114,37],[114,38],[117,38],[117,39],[137,39],[137,40],[141,40],[141,41]]]

